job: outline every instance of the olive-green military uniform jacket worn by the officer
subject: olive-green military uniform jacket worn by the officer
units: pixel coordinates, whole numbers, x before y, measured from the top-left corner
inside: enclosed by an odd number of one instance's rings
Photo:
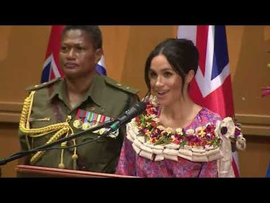
[[[38,129],[65,122],[67,115],[71,115],[69,126],[72,127],[74,133],[83,130],[79,129],[76,122],[74,122],[78,119],[78,112],[93,112],[95,115],[104,115],[106,118],[115,119],[130,107],[133,107],[138,100],[137,91],[99,74],[95,74],[90,89],[88,89],[81,103],[73,109],[69,108],[65,79],[56,79],[47,84],[34,86],[29,91],[36,91],[31,105],[29,128]],[[126,129],[123,126],[119,129],[119,135],[116,138],[104,137],[77,147],[76,155],[78,158],[76,159],[75,169],[114,173],[125,133]],[[19,130],[19,136],[22,150],[29,150],[29,148],[44,145],[53,136],[53,133],[29,138]],[[97,134],[83,133],[76,138],[76,144],[94,138],[97,138]],[[69,145],[74,145],[72,140],[67,141],[67,146]],[[57,145],[57,147],[59,148],[60,145]],[[62,160],[63,168],[74,169],[74,160],[72,159],[74,148],[66,149],[63,153],[61,151],[46,151],[36,160],[34,165],[59,167]]]

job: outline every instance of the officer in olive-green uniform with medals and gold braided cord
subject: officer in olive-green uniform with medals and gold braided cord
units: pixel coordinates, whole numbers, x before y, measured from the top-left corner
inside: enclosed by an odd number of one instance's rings
[[[102,34],[97,26],[70,25],[61,37],[60,64],[64,79],[29,89],[20,119],[22,150],[53,143],[119,117],[137,103],[137,91],[95,72],[102,56]],[[75,148],[36,152],[24,164],[114,173],[125,126],[112,137],[96,139],[101,131],[84,133],[60,146]]]

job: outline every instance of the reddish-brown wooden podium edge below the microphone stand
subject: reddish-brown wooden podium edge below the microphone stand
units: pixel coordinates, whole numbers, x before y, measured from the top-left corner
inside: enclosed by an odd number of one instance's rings
[[[90,171],[77,171],[29,165],[17,165],[15,170],[18,178],[137,178],[135,176],[122,176],[112,173],[95,173]]]

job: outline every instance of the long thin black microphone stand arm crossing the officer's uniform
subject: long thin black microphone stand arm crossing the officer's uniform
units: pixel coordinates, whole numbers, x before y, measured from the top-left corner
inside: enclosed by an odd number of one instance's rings
[[[41,145],[37,148],[34,148],[32,150],[28,150],[28,151],[22,151],[22,152],[18,152],[18,153],[15,153],[14,155],[11,155],[10,157],[6,158],[6,159],[1,159],[0,160],[0,166],[1,165],[5,165],[7,164],[8,162],[11,162],[15,159],[20,159],[21,157],[25,157],[27,155],[30,155],[32,154],[33,152],[36,152],[36,151],[42,151],[42,150],[48,150],[48,148],[54,146],[54,145],[58,145],[60,143],[64,143],[65,141],[68,141],[68,140],[72,140],[74,138],[77,138],[79,136],[81,136],[81,134],[83,133],[87,133],[87,132],[93,132],[93,131],[97,131],[99,129],[102,129],[103,127],[108,127],[110,124],[112,124],[114,122],[113,121],[109,121],[109,122],[105,122],[104,124],[101,124],[100,126],[95,126],[93,128],[90,128],[90,129],[87,129],[85,131],[81,131],[79,133],[74,133],[72,136],[67,136],[65,138],[60,138],[59,140],[56,140],[55,142],[53,143],[49,143],[47,145]],[[102,136],[107,136],[109,133],[107,133],[108,131],[105,131],[104,133],[102,133]]]

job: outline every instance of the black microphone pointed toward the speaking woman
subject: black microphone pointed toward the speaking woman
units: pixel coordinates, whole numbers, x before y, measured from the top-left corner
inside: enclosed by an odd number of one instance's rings
[[[142,114],[146,107],[147,104],[143,101],[136,103],[134,107],[130,108],[130,110],[127,110],[120,117],[118,117],[115,122],[111,126],[109,126],[109,129],[102,133],[102,136],[107,136],[109,133],[112,133],[113,131],[119,129],[120,126],[127,124],[131,121],[131,119],[137,117],[137,115],[139,114]]]

